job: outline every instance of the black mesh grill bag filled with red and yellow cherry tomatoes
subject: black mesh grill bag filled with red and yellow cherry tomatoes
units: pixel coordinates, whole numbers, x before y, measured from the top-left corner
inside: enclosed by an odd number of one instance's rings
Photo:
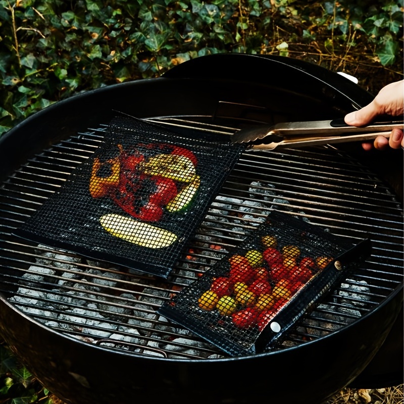
[[[158,313],[229,355],[269,351],[370,248],[272,211]]]

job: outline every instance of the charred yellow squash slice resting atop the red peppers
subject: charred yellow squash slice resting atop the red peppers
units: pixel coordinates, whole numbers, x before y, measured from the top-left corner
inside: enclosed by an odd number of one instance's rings
[[[191,159],[173,154],[150,157],[139,164],[139,169],[147,175],[159,175],[180,182],[190,182],[196,174]]]

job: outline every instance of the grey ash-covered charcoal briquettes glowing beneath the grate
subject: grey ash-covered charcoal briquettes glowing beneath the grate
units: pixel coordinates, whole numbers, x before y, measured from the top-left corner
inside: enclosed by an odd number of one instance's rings
[[[272,209],[293,210],[268,183],[251,182],[241,193],[215,199],[192,247],[167,280],[38,245],[35,262],[23,271],[9,300],[34,321],[86,343],[163,358],[223,358],[216,347],[156,310],[210,269]],[[297,331],[317,338],[354,321],[366,305],[367,291],[366,282],[347,281],[332,304],[320,305]]]

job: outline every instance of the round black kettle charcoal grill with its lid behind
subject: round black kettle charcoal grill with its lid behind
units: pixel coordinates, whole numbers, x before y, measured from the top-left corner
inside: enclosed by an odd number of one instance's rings
[[[402,199],[360,145],[244,153],[168,279],[11,234],[91,156],[116,111],[192,136],[231,135],[247,125],[338,118],[371,99],[308,63],[213,55],[26,119],[0,139],[2,336],[72,404],[315,404],[361,377],[367,383],[383,342],[401,337],[389,333],[402,306]],[[230,358],[156,314],[274,209],[349,240],[369,236],[372,257],[264,354]],[[372,382],[398,383],[391,366]],[[285,383],[293,389],[278,387]]]

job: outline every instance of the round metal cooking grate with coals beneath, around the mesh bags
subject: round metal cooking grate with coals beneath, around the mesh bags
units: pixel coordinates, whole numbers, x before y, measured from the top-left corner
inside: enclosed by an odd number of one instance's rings
[[[160,117],[176,130],[231,134],[229,120]],[[226,357],[156,310],[281,210],[355,242],[370,237],[371,258],[302,318],[275,349],[338,332],[377,307],[402,284],[402,207],[381,179],[331,146],[247,151],[169,279],[94,262],[13,237],[26,220],[98,147],[107,125],[89,128],[27,160],[0,188],[0,288],[25,315],[90,344],[172,359]]]

